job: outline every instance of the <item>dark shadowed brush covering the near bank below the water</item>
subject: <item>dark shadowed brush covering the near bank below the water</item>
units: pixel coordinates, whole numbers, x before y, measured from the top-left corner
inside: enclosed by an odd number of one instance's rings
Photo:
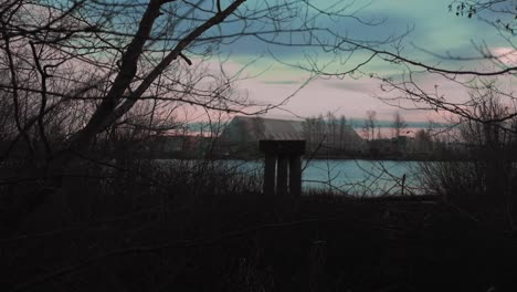
[[[0,239],[2,291],[514,291],[505,221],[443,200],[261,195],[215,163],[84,163]]]

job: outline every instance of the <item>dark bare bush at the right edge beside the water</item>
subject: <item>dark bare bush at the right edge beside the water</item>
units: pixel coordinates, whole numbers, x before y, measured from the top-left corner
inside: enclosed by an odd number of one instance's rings
[[[456,152],[466,154],[467,159],[422,164],[422,179],[430,190],[477,215],[489,215],[490,220],[506,215],[515,229],[516,134],[507,129],[514,128],[516,122],[494,122],[515,108],[503,104],[489,88],[478,88],[469,95],[473,105],[466,111],[475,118],[460,117],[453,140]],[[429,137],[422,133],[419,140]]]

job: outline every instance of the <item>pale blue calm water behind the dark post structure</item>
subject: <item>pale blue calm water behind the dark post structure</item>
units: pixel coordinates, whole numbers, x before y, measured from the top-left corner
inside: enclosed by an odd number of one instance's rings
[[[260,170],[262,161],[236,161],[245,171]],[[401,194],[405,174],[404,194],[422,194],[418,180],[418,161],[393,160],[321,160],[304,161],[304,190],[318,189],[356,196]]]

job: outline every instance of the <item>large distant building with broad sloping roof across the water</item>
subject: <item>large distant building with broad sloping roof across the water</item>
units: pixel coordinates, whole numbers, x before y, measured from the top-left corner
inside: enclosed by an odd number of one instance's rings
[[[224,154],[256,154],[258,140],[305,139],[307,150],[323,154],[361,153],[365,140],[349,125],[315,127],[305,121],[235,116],[219,138]]]

